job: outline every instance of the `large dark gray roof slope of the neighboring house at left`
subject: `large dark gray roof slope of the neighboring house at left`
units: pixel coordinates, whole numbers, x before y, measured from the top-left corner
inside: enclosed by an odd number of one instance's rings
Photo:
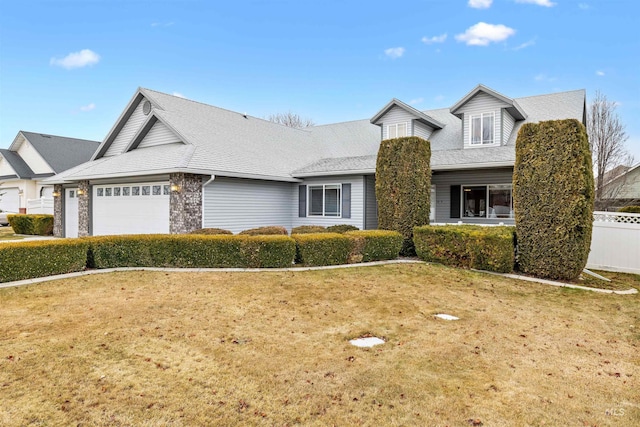
[[[98,141],[87,139],[25,131],[20,131],[20,133],[33,145],[55,173],[86,162],[100,145]]]

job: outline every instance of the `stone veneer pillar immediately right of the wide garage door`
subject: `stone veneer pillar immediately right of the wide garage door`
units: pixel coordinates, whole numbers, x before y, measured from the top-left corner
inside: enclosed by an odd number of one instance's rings
[[[173,173],[169,183],[169,232],[185,234],[202,228],[202,176]]]

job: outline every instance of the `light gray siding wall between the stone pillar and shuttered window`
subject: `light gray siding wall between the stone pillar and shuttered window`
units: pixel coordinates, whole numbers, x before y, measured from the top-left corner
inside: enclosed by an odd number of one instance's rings
[[[291,230],[294,190],[297,186],[290,183],[216,178],[204,188],[203,227],[233,233],[269,225]]]

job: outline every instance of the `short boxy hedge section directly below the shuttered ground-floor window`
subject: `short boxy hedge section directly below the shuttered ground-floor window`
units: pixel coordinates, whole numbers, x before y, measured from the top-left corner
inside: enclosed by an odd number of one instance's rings
[[[296,262],[304,265],[346,264],[351,253],[351,239],[338,233],[295,234]]]

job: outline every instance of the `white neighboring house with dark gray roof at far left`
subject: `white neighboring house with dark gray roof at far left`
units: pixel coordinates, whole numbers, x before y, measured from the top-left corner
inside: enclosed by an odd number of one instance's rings
[[[0,210],[53,214],[53,185],[45,178],[88,161],[97,141],[20,131],[0,149]]]

